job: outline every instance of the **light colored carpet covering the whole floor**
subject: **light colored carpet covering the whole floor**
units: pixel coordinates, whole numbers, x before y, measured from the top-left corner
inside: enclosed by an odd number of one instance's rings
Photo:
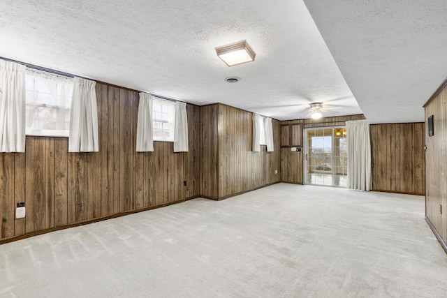
[[[276,184],[0,246],[0,297],[447,297],[420,196]]]

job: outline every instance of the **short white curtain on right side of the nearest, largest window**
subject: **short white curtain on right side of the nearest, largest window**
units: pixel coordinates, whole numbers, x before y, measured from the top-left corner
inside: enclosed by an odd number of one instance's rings
[[[96,82],[75,77],[71,98],[69,152],[97,152]]]

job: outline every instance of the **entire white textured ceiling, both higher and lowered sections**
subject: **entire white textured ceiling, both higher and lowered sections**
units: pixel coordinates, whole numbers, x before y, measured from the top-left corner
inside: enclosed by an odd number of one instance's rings
[[[305,3],[2,0],[0,57],[276,119],[309,117],[309,103],[323,102],[326,117],[424,120],[447,77],[447,1]],[[242,39],[256,60],[223,64],[214,47]]]

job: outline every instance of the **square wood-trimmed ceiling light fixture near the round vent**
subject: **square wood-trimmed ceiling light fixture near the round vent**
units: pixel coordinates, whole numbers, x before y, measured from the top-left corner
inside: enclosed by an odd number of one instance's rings
[[[228,66],[254,61],[254,57],[256,56],[256,53],[251,49],[247,40],[222,45],[221,47],[216,47],[215,50],[217,56]]]

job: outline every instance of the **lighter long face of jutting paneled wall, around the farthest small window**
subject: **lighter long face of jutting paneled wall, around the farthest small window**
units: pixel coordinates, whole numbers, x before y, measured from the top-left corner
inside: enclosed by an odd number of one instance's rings
[[[272,125],[274,151],[267,152],[265,146],[260,151],[251,151],[252,113],[218,105],[219,198],[280,181],[281,128],[276,120]]]

